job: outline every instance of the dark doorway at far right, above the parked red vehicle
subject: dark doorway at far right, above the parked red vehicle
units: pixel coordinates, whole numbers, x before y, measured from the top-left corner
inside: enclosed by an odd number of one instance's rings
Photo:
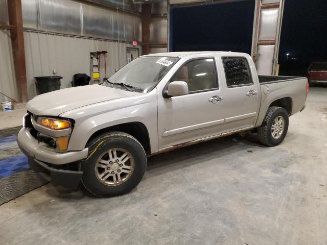
[[[307,76],[313,61],[327,61],[325,0],[287,0],[284,6],[279,75]]]

